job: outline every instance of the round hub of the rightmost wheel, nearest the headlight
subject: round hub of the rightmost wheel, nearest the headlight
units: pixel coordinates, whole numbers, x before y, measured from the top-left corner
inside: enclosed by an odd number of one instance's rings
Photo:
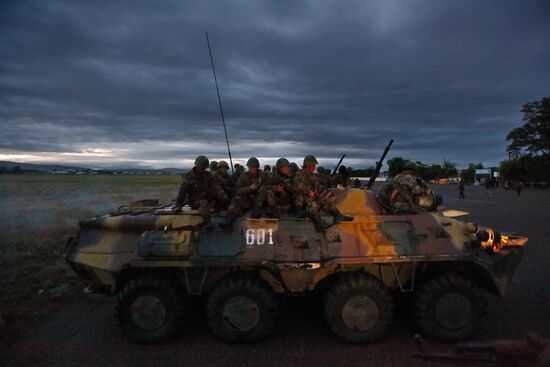
[[[446,329],[458,330],[468,325],[472,317],[470,300],[460,293],[447,293],[435,306],[435,319]]]

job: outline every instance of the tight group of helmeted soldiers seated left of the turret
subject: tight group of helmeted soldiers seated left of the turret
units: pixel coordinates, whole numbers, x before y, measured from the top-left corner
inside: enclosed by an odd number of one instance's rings
[[[232,230],[237,217],[248,212],[252,218],[278,218],[294,212],[296,217],[311,218],[318,231],[331,225],[321,219],[321,214],[333,216],[333,224],[353,220],[331,200],[328,189],[338,180],[323,167],[316,168],[317,164],[312,155],[304,158],[302,169],[279,158],[273,171],[270,166],[260,170],[260,162],[252,157],[246,163],[248,170],[235,165],[231,176],[227,162],[209,162],[200,155],[193,169],[183,176],[174,211],[188,204],[199,210],[205,228],[212,228],[210,211],[227,209],[226,221],[220,224],[225,230]]]

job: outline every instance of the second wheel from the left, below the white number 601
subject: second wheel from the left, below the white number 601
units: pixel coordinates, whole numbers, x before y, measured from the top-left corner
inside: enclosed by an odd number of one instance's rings
[[[206,310],[214,334],[232,342],[255,342],[271,333],[277,300],[260,279],[239,275],[214,288]]]

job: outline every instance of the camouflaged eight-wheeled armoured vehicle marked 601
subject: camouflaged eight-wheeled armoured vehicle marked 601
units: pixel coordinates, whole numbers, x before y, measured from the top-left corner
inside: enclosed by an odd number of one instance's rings
[[[314,291],[345,341],[379,339],[399,292],[412,293],[421,332],[464,339],[482,321],[483,292],[503,296],[521,261],[525,237],[440,211],[387,215],[370,190],[332,192],[354,220],[323,231],[291,215],[241,218],[232,232],[214,216],[204,230],[198,211],[144,201],[81,221],[66,258],[90,290],[117,295],[124,333],[142,343],[183,330],[199,296],[216,335],[257,341],[272,331],[280,296]]]

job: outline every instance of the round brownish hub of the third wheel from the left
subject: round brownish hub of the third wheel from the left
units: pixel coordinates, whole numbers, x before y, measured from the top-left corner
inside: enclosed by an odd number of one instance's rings
[[[372,298],[357,295],[348,299],[344,305],[342,319],[348,328],[363,332],[376,325],[380,319],[380,310]]]

